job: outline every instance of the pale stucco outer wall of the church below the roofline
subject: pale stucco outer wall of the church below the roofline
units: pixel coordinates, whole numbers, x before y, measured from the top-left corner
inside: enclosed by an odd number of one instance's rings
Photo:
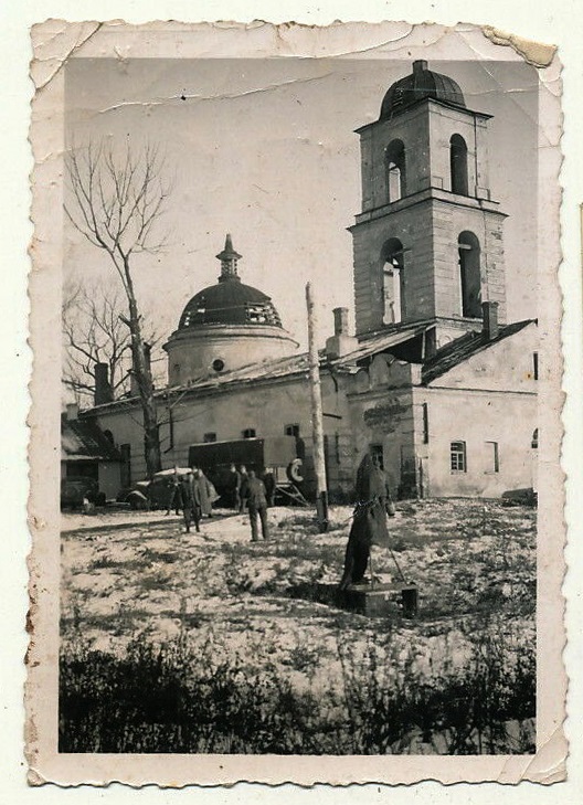
[[[528,326],[464,361],[428,386],[421,367],[377,356],[356,373],[322,372],[324,427],[328,442],[329,489],[349,494],[363,452],[382,444],[385,469],[395,491],[413,484],[423,463],[425,491],[434,496],[499,496],[532,486],[532,433],[537,427],[537,381],[532,353],[537,328]],[[423,405],[427,405],[428,443],[424,443]],[[173,448],[169,416],[172,416]],[[119,447],[131,445],[131,474],[146,476],[141,414],[120,404],[98,416]],[[245,428],[258,437],[282,436],[298,424],[305,439],[307,469],[311,454],[311,415],[306,375],[239,386],[171,393],[159,403],[162,465],[184,465],[190,445],[215,433],[237,439]],[[467,470],[452,473],[451,443],[466,443]],[[498,444],[499,472],[494,473],[491,444]]]

